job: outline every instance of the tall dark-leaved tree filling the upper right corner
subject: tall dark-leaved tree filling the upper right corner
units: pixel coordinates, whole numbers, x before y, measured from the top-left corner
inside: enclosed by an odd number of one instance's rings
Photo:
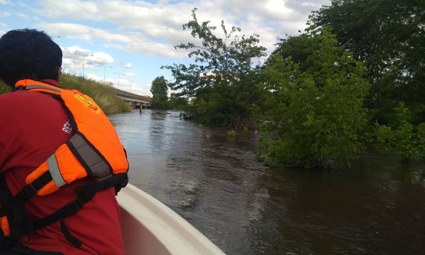
[[[339,45],[369,70],[368,107],[389,123],[400,101],[411,122],[425,121],[425,1],[333,0],[310,16],[310,29],[332,27]]]

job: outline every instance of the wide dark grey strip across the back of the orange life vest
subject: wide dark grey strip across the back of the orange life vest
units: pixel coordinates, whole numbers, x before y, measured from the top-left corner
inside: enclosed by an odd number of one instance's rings
[[[69,139],[76,152],[81,156],[91,173],[90,177],[95,180],[101,180],[111,175],[110,167],[99,154],[86,142],[79,134],[75,134]]]

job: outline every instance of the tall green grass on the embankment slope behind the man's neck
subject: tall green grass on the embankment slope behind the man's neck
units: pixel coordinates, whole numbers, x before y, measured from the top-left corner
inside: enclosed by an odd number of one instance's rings
[[[128,112],[131,110],[131,106],[124,103],[115,94],[115,90],[111,85],[68,74],[62,74],[60,84],[62,88],[76,89],[89,95],[102,108],[105,114]],[[0,80],[0,94],[9,91],[10,87]]]

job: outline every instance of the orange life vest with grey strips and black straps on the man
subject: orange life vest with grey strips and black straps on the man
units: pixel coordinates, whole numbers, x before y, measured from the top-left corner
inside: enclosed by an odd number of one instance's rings
[[[0,210],[6,210],[6,212],[0,212],[2,230],[0,232],[3,232],[0,234],[4,237],[13,236],[13,239],[31,234],[32,231],[58,220],[61,220],[63,224],[64,217],[75,214],[99,190],[115,187],[118,192],[128,182],[128,161],[125,149],[112,123],[93,99],[77,90],[62,89],[30,79],[18,81],[15,84],[15,90],[46,93],[60,100],[69,115],[72,137],[26,177],[26,185],[13,197],[13,200],[23,205],[35,195],[51,194],[78,179],[88,177],[93,182],[80,187],[77,191],[78,199],[59,211],[35,222],[26,220],[26,224],[31,226],[15,226],[9,220],[12,213],[16,214],[16,210],[22,210],[23,206],[17,209],[8,208],[7,204],[0,204]],[[0,200],[0,203],[3,202]],[[15,221],[19,220],[22,221],[21,219]],[[74,240],[74,237],[67,232],[66,227],[65,231],[64,229],[62,231],[75,246],[81,245],[81,242]]]

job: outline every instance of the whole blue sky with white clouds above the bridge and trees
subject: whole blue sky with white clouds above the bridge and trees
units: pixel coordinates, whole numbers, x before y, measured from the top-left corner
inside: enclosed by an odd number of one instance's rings
[[[259,35],[268,53],[278,38],[297,35],[308,15],[330,0],[0,0],[0,36],[12,29],[44,30],[62,48],[63,72],[151,95],[153,79],[171,72],[161,66],[191,63],[175,45],[194,42],[182,24],[192,19],[220,27],[237,26]],[[221,35],[217,29],[217,34]],[[84,69],[83,69],[84,66]]]

